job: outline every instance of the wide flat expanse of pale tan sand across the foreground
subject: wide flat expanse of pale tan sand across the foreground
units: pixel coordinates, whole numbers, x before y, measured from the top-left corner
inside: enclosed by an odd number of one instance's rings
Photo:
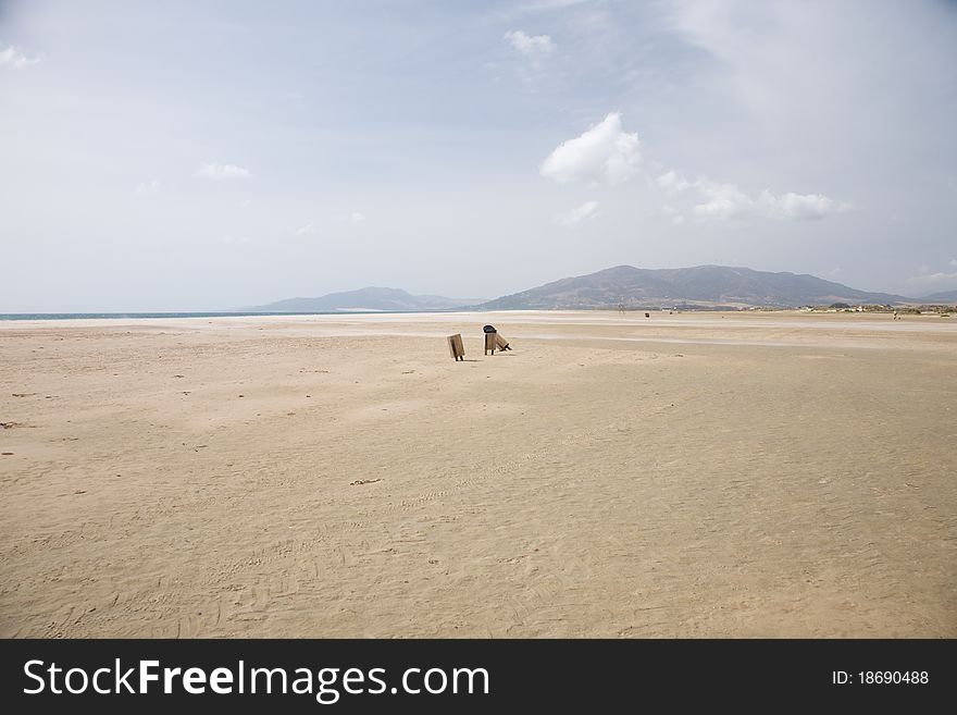
[[[0,636],[957,637],[957,317],[7,322],[0,357]]]

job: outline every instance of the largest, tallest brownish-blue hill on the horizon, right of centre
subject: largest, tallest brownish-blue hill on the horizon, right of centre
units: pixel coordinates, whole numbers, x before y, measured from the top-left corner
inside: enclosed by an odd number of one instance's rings
[[[548,310],[630,307],[721,306],[798,307],[806,305],[896,304],[908,298],[857,291],[808,274],[771,273],[749,268],[698,266],[641,269],[617,266],[561,279],[482,304],[483,310]]]

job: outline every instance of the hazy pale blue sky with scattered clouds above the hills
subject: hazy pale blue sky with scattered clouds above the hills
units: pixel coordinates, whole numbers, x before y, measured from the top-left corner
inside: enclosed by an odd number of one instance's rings
[[[0,0],[0,312],[957,288],[957,2]]]

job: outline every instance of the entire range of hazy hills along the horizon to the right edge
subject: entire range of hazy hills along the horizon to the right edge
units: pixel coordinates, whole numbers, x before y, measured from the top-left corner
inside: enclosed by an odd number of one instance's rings
[[[854,305],[952,304],[957,291],[909,298],[891,293],[858,291],[806,273],[773,273],[728,266],[642,269],[616,266],[564,278],[494,300],[410,295],[398,288],[369,287],[332,293],[319,298],[289,298],[253,308],[271,312],[321,311],[438,311],[438,310],[555,310],[572,308],[685,307],[795,308]]]

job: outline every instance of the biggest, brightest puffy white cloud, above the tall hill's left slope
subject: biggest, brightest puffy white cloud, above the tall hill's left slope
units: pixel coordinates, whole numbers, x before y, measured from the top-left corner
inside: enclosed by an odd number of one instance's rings
[[[559,184],[619,184],[635,173],[641,159],[638,145],[638,135],[623,132],[621,114],[612,112],[581,136],[559,145],[539,171]]]

